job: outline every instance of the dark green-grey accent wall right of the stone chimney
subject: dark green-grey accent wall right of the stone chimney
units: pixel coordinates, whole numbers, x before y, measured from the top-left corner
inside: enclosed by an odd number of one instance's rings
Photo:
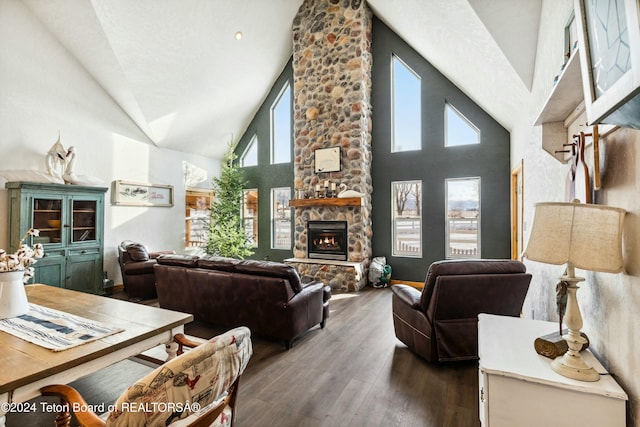
[[[445,179],[481,178],[481,256],[510,257],[510,136],[379,19],[373,21],[373,256],[385,256],[392,279],[423,281],[445,257]],[[391,58],[400,57],[422,81],[422,150],[391,153]],[[469,66],[473,66],[470,64]],[[445,102],[480,129],[481,143],[444,146]],[[391,182],[422,180],[422,257],[391,254]]]

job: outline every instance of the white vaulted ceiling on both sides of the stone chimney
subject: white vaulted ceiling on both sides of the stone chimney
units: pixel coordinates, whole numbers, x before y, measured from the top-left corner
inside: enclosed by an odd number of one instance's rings
[[[240,138],[286,65],[291,23],[302,4],[22,1],[146,142],[212,158]],[[541,2],[368,1],[376,16],[507,129],[531,87]]]

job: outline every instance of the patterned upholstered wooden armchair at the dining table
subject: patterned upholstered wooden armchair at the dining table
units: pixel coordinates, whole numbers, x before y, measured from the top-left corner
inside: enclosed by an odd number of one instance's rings
[[[239,327],[202,344],[177,335],[179,352],[194,347],[131,385],[105,419],[93,412],[73,412],[81,426],[232,426],[240,375],[252,355],[251,334]],[[198,345],[200,344],[200,345]],[[44,396],[59,396],[65,408],[89,409],[67,385],[43,387]],[[64,412],[57,426],[68,426]]]

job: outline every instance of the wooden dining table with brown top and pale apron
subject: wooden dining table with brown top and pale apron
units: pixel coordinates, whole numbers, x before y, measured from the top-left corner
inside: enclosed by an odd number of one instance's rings
[[[173,336],[184,332],[193,315],[42,284],[25,286],[32,304],[59,310],[121,332],[64,351],[52,351],[0,331],[0,426],[11,411],[26,405],[48,384],[68,384],[132,356],[165,345],[175,357]]]

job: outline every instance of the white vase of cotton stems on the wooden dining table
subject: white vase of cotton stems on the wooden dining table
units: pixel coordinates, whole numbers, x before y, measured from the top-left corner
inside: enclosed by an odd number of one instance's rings
[[[21,316],[29,312],[29,302],[24,283],[33,277],[33,264],[42,258],[44,248],[41,243],[23,244],[28,236],[38,236],[40,231],[30,228],[18,243],[15,254],[7,254],[0,249],[0,319]]]

